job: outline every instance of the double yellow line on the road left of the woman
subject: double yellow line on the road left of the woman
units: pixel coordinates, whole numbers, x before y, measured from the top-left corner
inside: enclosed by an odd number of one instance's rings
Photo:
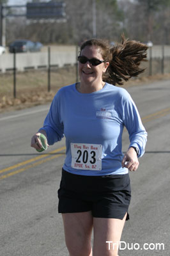
[[[31,163],[31,162],[34,162],[34,161],[38,160],[38,159],[42,159],[42,158],[44,158],[44,157],[50,156],[50,154],[55,154],[55,153],[57,153],[57,152],[59,152],[59,151],[61,151],[61,150],[65,150],[65,148],[66,148],[66,147],[58,148],[58,149],[56,149],[56,150],[53,150],[53,151],[49,152],[48,154],[42,154],[41,156],[33,157],[33,158],[28,159],[28,160],[26,160],[26,161],[24,161],[24,162],[15,164],[15,165],[13,165],[13,166],[9,166],[9,167],[7,167],[7,168],[4,168],[3,170],[0,170],[0,173],[8,172],[8,171],[10,171],[10,170],[12,170],[12,169],[15,169],[15,168],[18,168],[18,167],[20,167],[20,166],[22,166],[22,165],[29,164],[29,163]]]

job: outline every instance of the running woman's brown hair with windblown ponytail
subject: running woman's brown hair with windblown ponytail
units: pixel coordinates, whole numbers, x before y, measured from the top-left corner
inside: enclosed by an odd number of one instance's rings
[[[146,60],[148,47],[137,41],[128,41],[122,36],[121,44],[110,48],[109,43],[105,40],[91,39],[81,45],[81,51],[87,45],[100,47],[102,49],[102,57],[105,61],[109,61],[110,65],[107,72],[103,74],[103,80],[110,84],[123,84],[130,77],[136,77],[144,68],[139,68],[141,61]]]

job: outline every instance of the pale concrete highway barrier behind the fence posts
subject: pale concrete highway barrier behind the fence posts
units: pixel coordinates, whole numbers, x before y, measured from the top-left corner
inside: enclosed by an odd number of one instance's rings
[[[64,67],[65,65],[74,65],[77,58],[77,46],[52,46],[43,47],[42,52],[26,52],[16,54],[16,70],[24,71],[31,68],[47,68],[49,65],[50,49],[50,66]],[[148,49],[148,60],[151,58],[170,57],[169,45],[153,45]],[[13,70],[13,54],[3,54],[0,56],[0,72]]]

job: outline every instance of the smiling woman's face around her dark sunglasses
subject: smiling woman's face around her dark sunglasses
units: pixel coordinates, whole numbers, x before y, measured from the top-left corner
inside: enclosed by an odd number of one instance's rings
[[[95,46],[87,45],[84,47],[81,51],[81,56],[85,56],[88,59],[95,58],[98,60],[104,60],[102,58],[101,49]],[[84,64],[79,62],[79,77],[81,79],[81,83],[102,83],[102,74],[107,70],[108,66],[108,62],[103,62],[97,66],[93,66],[89,61]]]

